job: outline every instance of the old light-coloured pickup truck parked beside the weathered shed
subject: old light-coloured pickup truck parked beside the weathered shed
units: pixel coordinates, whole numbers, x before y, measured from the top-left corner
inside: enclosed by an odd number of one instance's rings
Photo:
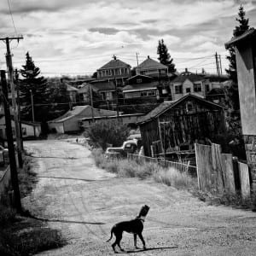
[[[121,147],[107,148],[105,157],[126,157],[127,154],[133,154],[137,150],[137,140],[125,141]]]

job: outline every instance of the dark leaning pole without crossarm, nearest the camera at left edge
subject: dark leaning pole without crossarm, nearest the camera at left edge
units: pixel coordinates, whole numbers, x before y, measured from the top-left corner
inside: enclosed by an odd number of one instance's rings
[[[2,89],[3,89],[2,97],[3,97],[3,106],[4,106],[5,125],[6,125],[6,137],[7,137],[8,150],[9,150],[9,166],[10,166],[10,172],[11,172],[11,183],[12,183],[12,187],[14,189],[14,194],[15,194],[15,208],[17,212],[22,212],[21,201],[20,201],[19,180],[18,180],[16,160],[15,160],[14,137],[12,132],[11,117],[9,112],[8,86],[7,86],[4,70],[1,70],[1,83],[2,83]]]

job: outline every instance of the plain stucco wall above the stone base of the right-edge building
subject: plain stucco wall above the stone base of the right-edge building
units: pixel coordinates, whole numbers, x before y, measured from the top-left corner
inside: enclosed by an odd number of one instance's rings
[[[253,50],[248,44],[236,48],[236,68],[242,133],[256,135],[255,71],[253,71]]]

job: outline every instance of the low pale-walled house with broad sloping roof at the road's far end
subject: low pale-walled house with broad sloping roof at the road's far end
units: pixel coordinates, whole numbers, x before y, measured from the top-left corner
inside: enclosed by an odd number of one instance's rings
[[[115,111],[91,108],[87,106],[76,106],[72,110],[67,111],[61,117],[51,120],[48,122],[49,131],[56,131],[57,133],[66,133],[66,132],[78,132],[80,131],[79,119],[82,118],[92,118],[115,115]]]

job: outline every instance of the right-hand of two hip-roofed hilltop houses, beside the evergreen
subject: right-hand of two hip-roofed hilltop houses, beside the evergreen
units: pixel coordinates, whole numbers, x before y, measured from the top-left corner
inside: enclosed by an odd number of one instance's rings
[[[158,61],[148,58],[136,67],[136,73],[153,78],[166,78],[168,75],[168,67]]]

